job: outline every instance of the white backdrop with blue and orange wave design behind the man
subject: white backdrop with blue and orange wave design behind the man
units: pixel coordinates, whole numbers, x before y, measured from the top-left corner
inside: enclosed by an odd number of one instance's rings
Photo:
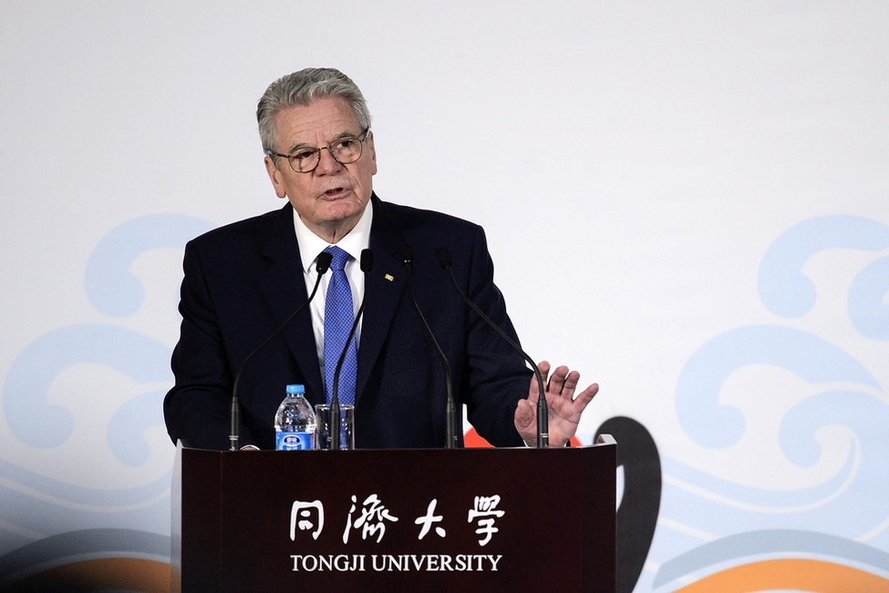
[[[653,435],[637,591],[771,560],[806,563],[773,589],[889,590],[889,5],[0,12],[0,584],[169,562],[181,247],[280,207],[256,100],[336,66],[378,195],[481,223],[526,350],[601,384],[581,439],[617,415]]]

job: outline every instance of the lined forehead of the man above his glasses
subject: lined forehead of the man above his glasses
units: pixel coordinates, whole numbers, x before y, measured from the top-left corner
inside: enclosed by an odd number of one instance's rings
[[[343,134],[359,134],[352,107],[340,97],[324,97],[307,106],[284,107],[275,114],[278,143],[315,145]]]

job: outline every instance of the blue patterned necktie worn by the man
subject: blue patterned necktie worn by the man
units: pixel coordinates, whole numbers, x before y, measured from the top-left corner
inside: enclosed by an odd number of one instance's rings
[[[340,354],[346,345],[346,338],[352,329],[352,323],[355,322],[355,310],[352,308],[352,289],[344,271],[349,254],[333,246],[325,251],[333,256],[324,305],[324,378],[327,403],[330,404],[334,394],[336,363],[339,362]],[[339,373],[336,391],[339,403],[343,405],[355,404],[355,377],[358,369],[356,353],[355,338],[353,338],[346,352],[343,370]]]

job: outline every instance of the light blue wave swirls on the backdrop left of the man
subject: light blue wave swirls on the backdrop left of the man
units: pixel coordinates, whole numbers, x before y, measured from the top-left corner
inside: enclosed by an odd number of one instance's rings
[[[84,279],[88,302],[115,319],[138,312],[145,290],[129,271],[133,261],[149,250],[181,249],[191,237],[211,228],[206,220],[153,214],[110,230],[88,259]],[[169,383],[170,354],[168,346],[150,336],[112,324],[79,323],[47,332],[28,344],[6,373],[5,421],[12,435],[35,449],[67,444],[76,429],[74,410],[49,402],[50,385],[60,373],[88,363],[122,373],[137,384]],[[107,405],[101,394],[96,396],[95,405]],[[144,435],[163,425],[162,397],[162,391],[139,394],[113,410],[107,443],[121,465],[138,469],[149,461],[150,445]],[[82,543],[86,533],[129,542],[108,549],[98,546],[90,552],[93,556],[122,553],[169,559],[165,526],[170,521],[171,468],[142,486],[109,489],[73,486],[28,469],[27,462],[0,460],[5,521],[0,523],[0,582],[9,571],[26,569],[22,558],[33,556],[35,550],[40,566],[66,562],[67,552],[57,544]],[[84,531],[84,526],[95,530]]]

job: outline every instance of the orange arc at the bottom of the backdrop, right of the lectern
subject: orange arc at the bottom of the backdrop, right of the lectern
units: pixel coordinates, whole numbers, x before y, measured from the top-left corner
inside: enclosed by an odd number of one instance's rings
[[[701,578],[674,593],[751,593],[791,589],[813,593],[889,593],[889,579],[821,560],[765,560]]]

